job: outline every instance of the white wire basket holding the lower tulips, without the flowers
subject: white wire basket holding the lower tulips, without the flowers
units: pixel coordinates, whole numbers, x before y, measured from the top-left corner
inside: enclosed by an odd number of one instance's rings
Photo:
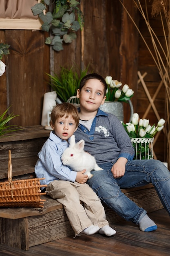
[[[130,138],[135,148],[134,159],[153,159],[154,138]]]

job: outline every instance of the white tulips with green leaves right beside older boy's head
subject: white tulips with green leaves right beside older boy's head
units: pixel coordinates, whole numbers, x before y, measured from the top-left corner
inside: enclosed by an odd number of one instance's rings
[[[125,84],[120,90],[122,83],[117,80],[112,80],[112,76],[106,76],[105,79],[108,88],[106,91],[106,101],[121,101],[127,102],[133,96],[134,91]]]

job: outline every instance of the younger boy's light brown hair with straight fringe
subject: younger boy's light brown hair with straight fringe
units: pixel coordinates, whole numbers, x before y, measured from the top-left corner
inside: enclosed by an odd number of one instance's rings
[[[57,104],[53,108],[51,112],[50,125],[53,126],[58,118],[64,117],[65,115],[66,118],[69,116],[73,118],[77,128],[77,126],[79,125],[79,113],[77,111],[77,108],[73,104],[67,102]]]

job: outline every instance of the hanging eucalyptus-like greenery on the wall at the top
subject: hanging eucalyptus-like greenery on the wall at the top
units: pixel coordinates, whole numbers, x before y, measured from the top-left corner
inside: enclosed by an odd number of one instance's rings
[[[46,12],[50,0],[41,0],[31,7],[33,15],[38,15],[43,22],[42,30],[52,33],[45,43],[52,45],[57,52],[63,50],[63,42],[71,43],[77,38],[76,32],[83,28],[84,19],[82,11],[77,7],[79,4],[76,0],[55,0],[53,11]]]

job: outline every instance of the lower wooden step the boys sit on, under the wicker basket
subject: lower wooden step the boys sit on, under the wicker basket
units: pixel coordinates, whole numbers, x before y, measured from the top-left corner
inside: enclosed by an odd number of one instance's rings
[[[148,213],[163,209],[155,189],[150,184],[122,191]],[[3,207],[0,209],[0,244],[28,250],[34,245],[74,236],[62,204],[47,195],[42,195],[41,198],[46,199],[44,208]],[[110,224],[121,220],[117,213],[103,205],[106,219]]]

